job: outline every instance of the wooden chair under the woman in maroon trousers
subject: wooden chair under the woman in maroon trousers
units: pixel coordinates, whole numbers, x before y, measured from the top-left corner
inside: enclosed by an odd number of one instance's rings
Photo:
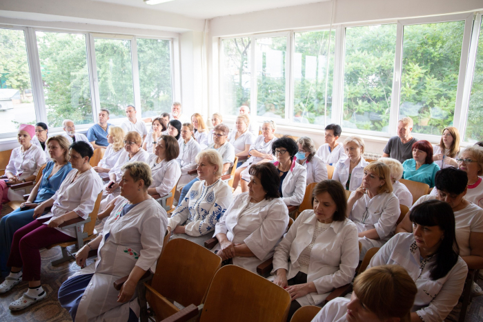
[[[99,192],[97,195],[96,202],[94,203],[94,209],[89,214],[88,219],[84,220],[80,217],[75,219],[70,219],[61,225],[59,228],[61,229],[68,229],[68,228],[75,228],[77,241],[68,241],[66,243],[55,243],[46,247],[48,250],[50,248],[54,248],[56,246],[61,247],[62,256],[55,261],[51,261],[50,263],[52,266],[58,265],[65,261],[70,261],[70,259],[74,259],[74,255],[67,250],[67,247],[70,245],[77,244],[77,250],[80,250],[86,241],[90,241],[91,239],[95,239],[97,234],[94,233],[94,227],[96,225],[97,213],[99,212],[99,205],[101,204],[102,192]],[[81,232],[81,225],[84,225],[83,232]]]

